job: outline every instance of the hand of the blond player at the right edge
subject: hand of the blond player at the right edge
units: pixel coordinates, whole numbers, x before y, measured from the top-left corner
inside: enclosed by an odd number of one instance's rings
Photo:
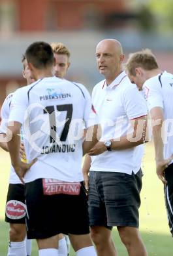
[[[167,158],[163,161],[156,161],[156,173],[158,178],[163,182],[163,184],[167,183],[167,181],[165,180],[165,169],[168,167],[168,164],[172,160],[173,160],[173,155],[170,156],[170,158]]]

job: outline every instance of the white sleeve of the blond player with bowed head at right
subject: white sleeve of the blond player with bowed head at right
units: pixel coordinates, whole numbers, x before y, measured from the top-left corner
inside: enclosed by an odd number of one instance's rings
[[[158,81],[157,81],[158,80]],[[148,79],[144,83],[144,94],[148,104],[148,110],[152,108],[161,107],[163,108],[163,96],[161,91],[161,83],[158,77],[153,77],[153,79]]]

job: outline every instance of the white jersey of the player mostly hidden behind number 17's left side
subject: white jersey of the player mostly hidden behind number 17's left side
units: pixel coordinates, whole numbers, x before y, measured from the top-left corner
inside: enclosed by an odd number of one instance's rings
[[[10,116],[10,104],[12,100],[12,93],[10,93],[4,100],[3,106],[1,108],[1,126],[0,126],[0,133],[7,133],[7,125],[8,125],[8,118]],[[14,171],[12,165],[10,166],[10,184],[18,184],[21,183],[18,175]]]

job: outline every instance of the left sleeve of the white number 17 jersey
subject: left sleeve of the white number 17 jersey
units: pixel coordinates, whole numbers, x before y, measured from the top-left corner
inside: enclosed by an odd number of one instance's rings
[[[13,97],[10,104],[10,116],[8,121],[18,121],[19,123],[24,123],[25,112],[28,106],[27,98],[27,87],[18,89]]]

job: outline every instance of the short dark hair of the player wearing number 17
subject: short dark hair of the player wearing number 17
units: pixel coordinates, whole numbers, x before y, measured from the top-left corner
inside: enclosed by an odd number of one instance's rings
[[[43,41],[35,42],[27,47],[25,51],[27,62],[35,68],[42,69],[52,66],[54,63],[54,53],[49,43]]]

